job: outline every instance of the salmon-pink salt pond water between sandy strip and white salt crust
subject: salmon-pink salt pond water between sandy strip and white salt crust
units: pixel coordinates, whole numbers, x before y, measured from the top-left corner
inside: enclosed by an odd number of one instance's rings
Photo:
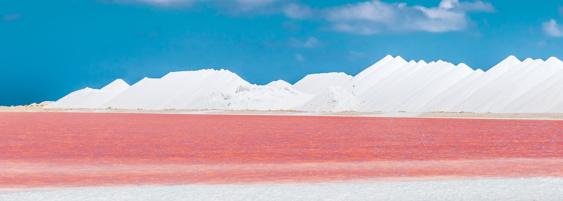
[[[563,121],[0,113],[0,187],[562,176]]]

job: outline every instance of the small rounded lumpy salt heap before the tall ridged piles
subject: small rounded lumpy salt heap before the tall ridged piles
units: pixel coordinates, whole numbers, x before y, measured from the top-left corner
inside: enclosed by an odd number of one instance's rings
[[[342,87],[328,87],[310,101],[294,110],[301,111],[353,111],[358,106],[358,100],[352,93]]]

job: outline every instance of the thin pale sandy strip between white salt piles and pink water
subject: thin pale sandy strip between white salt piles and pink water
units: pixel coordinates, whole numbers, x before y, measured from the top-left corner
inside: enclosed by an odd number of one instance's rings
[[[418,117],[418,118],[487,118],[487,119],[563,119],[563,113],[449,113],[449,112],[305,112],[295,110],[132,110],[132,109],[45,109],[40,107],[5,107],[1,112],[86,112],[86,113],[157,113],[157,114],[244,114],[244,115],[333,115],[348,117]]]

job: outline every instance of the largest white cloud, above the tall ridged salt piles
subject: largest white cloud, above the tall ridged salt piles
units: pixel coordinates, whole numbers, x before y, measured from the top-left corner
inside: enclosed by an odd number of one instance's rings
[[[379,0],[325,8],[325,19],[332,29],[353,34],[382,32],[452,32],[467,28],[467,12],[493,12],[488,2],[443,0],[438,7],[407,6],[406,3],[386,3]]]

